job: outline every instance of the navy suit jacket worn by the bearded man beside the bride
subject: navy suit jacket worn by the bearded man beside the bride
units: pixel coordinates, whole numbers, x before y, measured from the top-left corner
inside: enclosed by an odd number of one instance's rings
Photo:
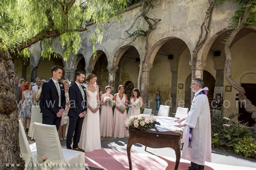
[[[85,87],[82,86],[82,89],[85,89]],[[78,117],[78,115],[83,111],[87,112],[86,91],[83,90],[83,93],[84,93],[84,100],[83,100],[81,91],[77,86],[77,83],[73,83],[69,87],[69,102],[70,102],[70,109],[68,114],[69,117]]]

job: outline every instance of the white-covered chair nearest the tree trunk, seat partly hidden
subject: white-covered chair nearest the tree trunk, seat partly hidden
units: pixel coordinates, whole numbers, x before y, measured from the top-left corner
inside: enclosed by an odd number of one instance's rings
[[[19,121],[19,148],[26,165],[33,164],[32,154],[36,154],[36,143],[29,145],[21,121]],[[26,166],[25,169],[33,169],[33,167]]]

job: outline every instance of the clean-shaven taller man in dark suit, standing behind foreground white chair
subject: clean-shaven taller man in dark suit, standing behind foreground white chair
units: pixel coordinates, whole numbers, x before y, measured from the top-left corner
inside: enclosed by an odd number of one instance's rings
[[[56,125],[57,130],[65,110],[65,92],[63,83],[59,82],[62,78],[63,68],[53,66],[51,68],[52,78],[45,82],[42,87],[43,100],[43,124]]]

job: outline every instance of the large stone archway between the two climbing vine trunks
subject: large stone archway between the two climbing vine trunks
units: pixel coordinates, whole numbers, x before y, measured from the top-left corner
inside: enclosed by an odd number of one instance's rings
[[[172,113],[176,111],[177,106],[178,72],[180,72],[178,68],[180,58],[183,55],[188,56],[188,59],[186,58],[185,68],[189,69],[187,66],[189,66],[188,63],[191,55],[186,42],[177,37],[161,39],[153,47],[154,49],[151,50],[150,56],[148,56],[148,59],[146,60],[152,63],[150,76],[148,76],[149,91],[146,93],[149,98],[148,101],[152,102],[152,105],[155,105],[154,97],[156,91],[160,90],[163,102],[165,105],[171,106],[170,112]],[[145,80],[142,80],[142,87],[145,87],[145,82]],[[145,91],[143,92],[145,94]],[[145,96],[143,97],[145,98]],[[147,98],[145,98],[145,100],[147,100]]]

